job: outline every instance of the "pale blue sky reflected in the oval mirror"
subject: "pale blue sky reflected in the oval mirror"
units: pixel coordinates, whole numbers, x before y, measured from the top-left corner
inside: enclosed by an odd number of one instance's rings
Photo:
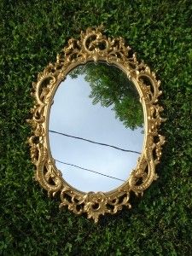
[[[75,79],[67,75],[67,79],[61,82],[50,109],[49,130],[142,152],[143,128],[134,131],[125,128],[125,125],[115,118],[113,104],[108,108],[102,107],[100,102],[93,105],[90,99],[90,84],[84,78],[84,74],[79,74]],[[106,192],[116,189],[124,182],[112,177],[126,180],[136,167],[139,154],[123,152],[73,137],[49,132],[52,157],[75,165],[68,166],[55,162],[56,167],[62,172],[62,177],[76,189],[84,192]]]

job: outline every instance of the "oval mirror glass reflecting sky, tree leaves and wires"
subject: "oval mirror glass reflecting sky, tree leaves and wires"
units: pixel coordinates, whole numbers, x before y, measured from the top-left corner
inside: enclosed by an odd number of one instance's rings
[[[117,189],[137,166],[143,123],[137,89],[119,67],[75,67],[55,91],[49,113],[56,168],[80,191]]]

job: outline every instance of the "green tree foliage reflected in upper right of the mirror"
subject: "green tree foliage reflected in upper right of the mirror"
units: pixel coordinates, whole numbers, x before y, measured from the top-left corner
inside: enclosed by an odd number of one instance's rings
[[[137,89],[118,67],[88,63],[73,69],[70,76],[75,79],[80,74],[90,84],[93,104],[101,103],[102,107],[112,105],[116,118],[127,128],[142,127],[143,108]]]

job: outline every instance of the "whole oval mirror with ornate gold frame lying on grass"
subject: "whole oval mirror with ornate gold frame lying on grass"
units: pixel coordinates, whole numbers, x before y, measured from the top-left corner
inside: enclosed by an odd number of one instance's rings
[[[100,215],[131,208],[131,192],[157,178],[165,138],[160,81],[122,38],[102,27],[70,39],[33,83],[32,136],[35,178],[61,207]]]

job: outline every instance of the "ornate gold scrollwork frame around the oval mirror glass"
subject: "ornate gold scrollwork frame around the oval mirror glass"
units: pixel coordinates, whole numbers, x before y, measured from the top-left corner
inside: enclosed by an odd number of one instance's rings
[[[84,193],[66,183],[55,167],[49,148],[49,111],[55,90],[67,73],[88,61],[105,61],[119,67],[135,84],[143,104],[143,152],[128,180],[108,193]],[[143,61],[137,61],[136,54],[131,53],[129,46],[125,46],[123,38],[107,38],[102,34],[102,26],[99,26],[81,32],[79,40],[71,38],[67,47],[57,55],[55,64],[49,63],[44,72],[38,74],[38,82],[33,83],[32,87],[35,105],[31,110],[32,119],[27,121],[32,125],[32,137],[28,142],[32,163],[36,166],[36,180],[49,195],[61,195],[60,207],[67,206],[76,214],[86,212],[88,218],[93,218],[95,222],[101,214],[114,214],[123,206],[131,208],[131,191],[143,195],[143,190],[157,178],[155,166],[160,162],[161,146],[165,143],[165,137],[158,133],[159,125],[165,119],[160,117],[163,111],[157,103],[161,94],[160,81],[155,78],[155,74]]]

